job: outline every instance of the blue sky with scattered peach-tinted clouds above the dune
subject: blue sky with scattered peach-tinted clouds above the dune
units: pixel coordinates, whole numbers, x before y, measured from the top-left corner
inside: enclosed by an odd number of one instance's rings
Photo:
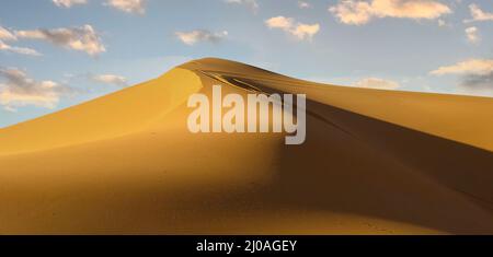
[[[347,86],[493,96],[491,0],[2,0],[0,128],[218,57]]]

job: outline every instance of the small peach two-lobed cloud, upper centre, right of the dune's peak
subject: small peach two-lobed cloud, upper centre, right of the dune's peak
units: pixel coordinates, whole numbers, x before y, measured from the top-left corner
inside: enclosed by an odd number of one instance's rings
[[[265,24],[270,28],[283,30],[301,40],[302,39],[311,40],[313,36],[320,31],[320,24],[318,23],[316,24],[296,23],[295,19],[285,16],[271,17],[265,21]]]

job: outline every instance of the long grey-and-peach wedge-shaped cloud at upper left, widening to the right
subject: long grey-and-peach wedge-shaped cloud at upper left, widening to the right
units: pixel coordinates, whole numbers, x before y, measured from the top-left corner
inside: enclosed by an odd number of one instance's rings
[[[72,28],[18,31],[19,38],[46,40],[67,49],[84,51],[90,56],[96,56],[106,51],[98,33],[91,25]]]

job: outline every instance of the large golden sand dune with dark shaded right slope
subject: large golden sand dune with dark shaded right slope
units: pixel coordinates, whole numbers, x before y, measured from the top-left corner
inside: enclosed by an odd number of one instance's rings
[[[307,141],[191,133],[193,93],[307,94]],[[221,59],[0,129],[0,234],[493,234],[493,100]]]

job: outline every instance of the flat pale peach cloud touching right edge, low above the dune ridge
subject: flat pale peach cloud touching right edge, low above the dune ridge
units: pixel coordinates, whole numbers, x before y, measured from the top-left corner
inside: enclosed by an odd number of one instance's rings
[[[469,59],[452,66],[443,66],[429,72],[433,75],[475,74],[486,75],[493,72],[493,59]]]

